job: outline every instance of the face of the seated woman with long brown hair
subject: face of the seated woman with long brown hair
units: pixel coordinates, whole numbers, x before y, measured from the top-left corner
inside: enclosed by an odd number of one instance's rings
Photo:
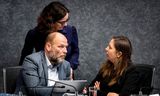
[[[119,55],[114,46],[114,39],[109,42],[108,46],[105,48],[105,51],[108,60],[115,64],[118,60]]]

